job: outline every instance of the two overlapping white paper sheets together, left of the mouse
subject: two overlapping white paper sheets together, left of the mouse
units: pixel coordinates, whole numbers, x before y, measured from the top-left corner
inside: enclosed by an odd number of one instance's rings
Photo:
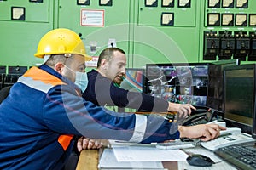
[[[165,169],[162,161],[185,161],[182,150],[159,150],[154,144],[111,144],[105,149],[99,169]]]

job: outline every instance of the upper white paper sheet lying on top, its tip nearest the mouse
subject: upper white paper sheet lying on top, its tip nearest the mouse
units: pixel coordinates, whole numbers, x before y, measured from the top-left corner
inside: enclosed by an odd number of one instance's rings
[[[160,150],[147,146],[113,146],[118,161],[185,161],[188,157],[182,150]]]

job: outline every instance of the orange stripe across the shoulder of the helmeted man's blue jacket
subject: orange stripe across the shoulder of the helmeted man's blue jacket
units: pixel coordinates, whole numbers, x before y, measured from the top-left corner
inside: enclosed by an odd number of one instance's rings
[[[51,84],[53,86],[63,84],[63,82],[59,78],[54,77],[50,75],[48,72],[38,69],[34,66],[29,71],[26,71],[26,73],[23,76],[32,77],[33,80],[39,80],[41,82]]]

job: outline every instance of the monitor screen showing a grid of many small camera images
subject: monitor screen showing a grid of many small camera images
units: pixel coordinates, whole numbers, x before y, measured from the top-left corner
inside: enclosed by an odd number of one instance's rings
[[[145,92],[175,103],[205,106],[208,63],[147,64]]]

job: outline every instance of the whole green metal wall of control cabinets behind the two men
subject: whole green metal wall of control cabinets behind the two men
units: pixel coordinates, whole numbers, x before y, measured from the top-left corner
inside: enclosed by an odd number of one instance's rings
[[[87,53],[92,56],[97,56],[103,48],[108,47],[109,41],[115,41],[117,47],[125,50],[128,67],[144,67],[148,63],[218,60],[218,55],[212,60],[204,57],[206,31],[230,31],[234,36],[236,31],[249,34],[256,30],[256,26],[249,24],[236,26],[235,17],[236,14],[247,14],[249,22],[249,15],[256,14],[254,0],[99,2],[106,1],[0,1],[0,65],[40,64],[42,59],[33,57],[38,41],[47,31],[58,27],[67,27],[79,33]],[[229,2],[228,6],[226,2]],[[247,4],[241,6],[241,2]],[[102,18],[99,14],[103,14]],[[208,14],[219,14],[220,24],[209,25]],[[223,26],[222,14],[234,14],[235,24]],[[88,25],[86,20],[93,17],[103,19],[103,26],[98,23],[94,26],[93,22]],[[247,57],[245,62],[249,62]]]

